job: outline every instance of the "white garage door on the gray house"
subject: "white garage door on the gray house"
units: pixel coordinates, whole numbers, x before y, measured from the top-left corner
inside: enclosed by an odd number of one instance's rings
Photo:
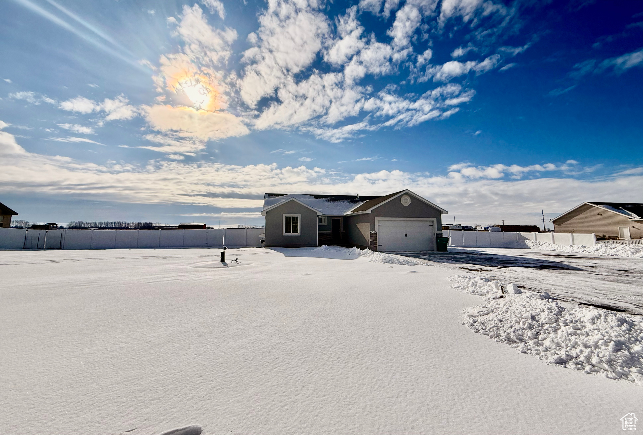
[[[433,221],[377,219],[377,250],[435,250],[435,227],[433,226]]]

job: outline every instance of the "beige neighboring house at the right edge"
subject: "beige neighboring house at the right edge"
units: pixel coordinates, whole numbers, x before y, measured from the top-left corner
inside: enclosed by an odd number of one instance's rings
[[[597,239],[640,239],[643,204],[584,202],[552,222],[554,232],[594,233]]]

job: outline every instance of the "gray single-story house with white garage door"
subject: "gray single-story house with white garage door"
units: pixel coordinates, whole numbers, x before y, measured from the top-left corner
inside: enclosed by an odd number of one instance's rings
[[[410,190],[386,196],[264,195],[266,247],[343,245],[378,251],[435,250],[438,207]]]

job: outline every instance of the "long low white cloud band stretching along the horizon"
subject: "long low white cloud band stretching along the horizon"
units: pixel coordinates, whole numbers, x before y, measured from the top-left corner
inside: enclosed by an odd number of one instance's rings
[[[529,223],[530,215],[541,208],[563,212],[590,199],[643,202],[640,168],[577,180],[554,176],[556,171],[564,172],[564,164],[473,166],[462,163],[450,168],[459,176],[403,171],[350,175],[318,167],[279,168],[275,163],[237,166],[152,160],[146,165],[125,162],[96,165],[62,156],[28,153],[15,142],[12,134],[4,131],[0,131],[0,165],[5,175],[0,179],[0,193],[37,192],[104,201],[256,210],[262,205],[260,198],[264,192],[270,191],[376,195],[411,189],[469,223],[495,219]],[[462,174],[467,168],[473,168],[471,174]],[[550,176],[530,180],[511,178],[514,174],[536,172],[546,172]],[[614,192],[619,192],[618,198]]]

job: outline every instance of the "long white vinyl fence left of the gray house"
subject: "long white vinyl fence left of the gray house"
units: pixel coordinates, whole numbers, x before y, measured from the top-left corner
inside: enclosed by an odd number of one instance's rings
[[[228,248],[261,246],[264,228],[225,230],[24,230],[0,228],[0,249]]]

